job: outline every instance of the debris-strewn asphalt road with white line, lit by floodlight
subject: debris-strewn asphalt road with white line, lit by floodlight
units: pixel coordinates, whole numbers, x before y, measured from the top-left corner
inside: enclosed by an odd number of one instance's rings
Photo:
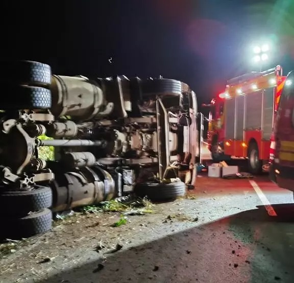
[[[158,204],[158,213],[130,217],[117,230],[86,230],[80,219],[70,229],[80,227],[83,241],[54,230],[0,260],[0,282],[294,282],[291,192],[266,176],[203,176],[190,195],[195,199]],[[100,239],[123,247],[102,255],[93,251]],[[40,264],[36,253],[52,260]]]

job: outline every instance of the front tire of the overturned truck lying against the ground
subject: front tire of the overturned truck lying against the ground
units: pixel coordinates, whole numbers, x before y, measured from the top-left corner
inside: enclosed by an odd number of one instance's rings
[[[175,200],[186,194],[186,186],[183,182],[174,183],[137,183],[134,193],[141,198],[147,197],[151,201]]]

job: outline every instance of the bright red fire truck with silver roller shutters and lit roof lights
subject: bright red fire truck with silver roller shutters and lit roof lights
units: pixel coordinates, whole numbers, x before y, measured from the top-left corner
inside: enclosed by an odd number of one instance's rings
[[[247,158],[252,174],[263,171],[286,79],[282,72],[277,65],[230,79],[225,91],[208,105],[208,144],[215,162]]]

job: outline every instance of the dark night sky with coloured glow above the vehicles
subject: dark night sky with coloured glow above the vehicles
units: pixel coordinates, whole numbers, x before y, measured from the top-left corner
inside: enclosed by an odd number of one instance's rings
[[[227,79],[258,70],[250,52],[262,38],[275,46],[268,67],[280,63],[285,73],[294,68],[293,0],[9,1],[0,6],[2,57],[48,63],[59,75],[162,75],[188,83],[207,102]]]

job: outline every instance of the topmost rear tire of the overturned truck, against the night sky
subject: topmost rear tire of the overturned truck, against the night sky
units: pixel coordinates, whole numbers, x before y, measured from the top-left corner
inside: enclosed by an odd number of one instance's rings
[[[49,86],[51,84],[51,67],[34,61],[1,62],[0,83]]]

